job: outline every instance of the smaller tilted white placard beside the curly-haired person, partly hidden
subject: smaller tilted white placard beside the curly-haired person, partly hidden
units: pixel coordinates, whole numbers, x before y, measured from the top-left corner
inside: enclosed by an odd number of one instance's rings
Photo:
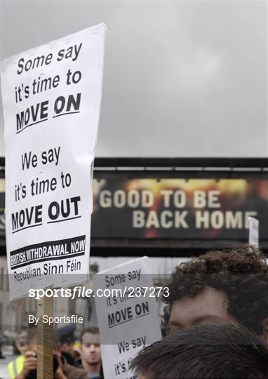
[[[105,379],[134,379],[133,357],[162,338],[149,260],[131,260],[93,281]]]

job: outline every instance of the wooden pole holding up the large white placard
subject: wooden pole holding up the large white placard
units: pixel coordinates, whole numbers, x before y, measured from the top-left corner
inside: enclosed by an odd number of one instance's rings
[[[43,315],[53,317],[53,296],[37,302],[37,379],[53,379],[53,324],[44,324]]]

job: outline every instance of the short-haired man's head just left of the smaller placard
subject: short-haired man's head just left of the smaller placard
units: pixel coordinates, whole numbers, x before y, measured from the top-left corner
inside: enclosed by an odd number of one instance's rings
[[[81,334],[81,359],[89,365],[101,364],[102,356],[98,328],[88,328]]]

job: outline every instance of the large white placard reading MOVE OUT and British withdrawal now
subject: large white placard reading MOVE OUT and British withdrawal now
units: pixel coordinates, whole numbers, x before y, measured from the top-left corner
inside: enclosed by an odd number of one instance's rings
[[[11,298],[86,280],[105,30],[2,62]]]

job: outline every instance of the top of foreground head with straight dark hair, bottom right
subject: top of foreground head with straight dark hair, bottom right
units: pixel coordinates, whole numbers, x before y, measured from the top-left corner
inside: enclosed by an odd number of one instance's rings
[[[145,347],[132,368],[140,379],[268,378],[268,350],[243,326],[207,324]]]

